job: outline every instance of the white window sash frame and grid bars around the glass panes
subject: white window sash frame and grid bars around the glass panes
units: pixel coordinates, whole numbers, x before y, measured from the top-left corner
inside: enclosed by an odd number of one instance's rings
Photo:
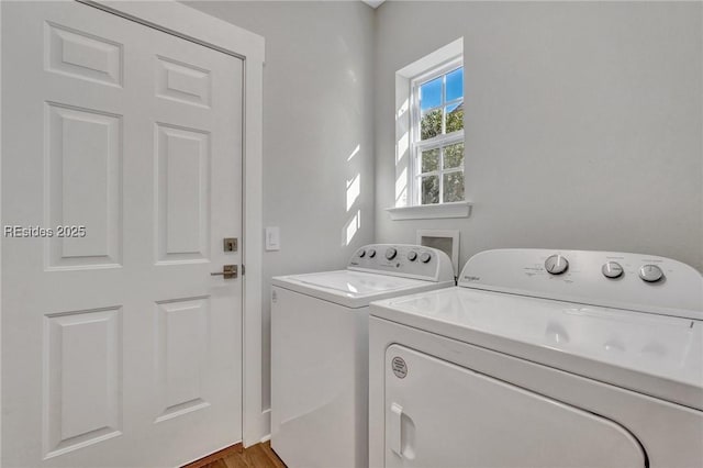
[[[411,158],[410,158],[410,200],[412,205],[424,207],[422,203],[422,178],[429,176],[437,176],[439,179],[439,201],[438,203],[428,203],[431,204],[445,204],[444,201],[444,175],[451,172],[465,172],[465,165],[453,167],[450,169],[444,169],[444,147],[456,144],[464,143],[464,127],[456,132],[451,132],[449,134],[445,134],[445,125],[446,120],[443,116],[442,120],[442,134],[434,136],[428,140],[420,140],[421,138],[421,120],[422,120],[422,111],[420,109],[420,88],[422,85],[432,81],[435,78],[444,77],[442,80],[442,100],[439,105],[427,109],[426,112],[432,112],[433,110],[443,110],[447,105],[451,105],[453,103],[462,103],[464,102],[464,93],[461,93],[460,99],[454,99],[451,101],[445,101],[445,90],[446,90],[446,75],[457,70],[458,68],[464,67],[464,56],[454,57],[437,67],[433,67],[429,70],[412,78],[410,80],[410,110],[411,110],[411,136],[410,136],[410,146],[411,146]],[[428,149],[439,149],[439,161],[437,164],[437,170],[431,172],[422,172],[422,152]],[[466,175],[465,175],[466,180]],[[464,194],[464,200],[466,200],[466,192]]]

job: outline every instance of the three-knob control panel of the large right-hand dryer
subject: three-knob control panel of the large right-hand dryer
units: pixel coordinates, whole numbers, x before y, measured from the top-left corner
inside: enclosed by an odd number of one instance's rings
[[[459,286],[703,320],[703,276],[671,258],[506,248],[475,255]]]

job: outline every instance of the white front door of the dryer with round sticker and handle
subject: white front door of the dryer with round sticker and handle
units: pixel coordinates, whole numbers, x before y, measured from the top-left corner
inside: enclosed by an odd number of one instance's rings
[[[392,345],[386,466],[641,468],[646,455],[613,421]]]

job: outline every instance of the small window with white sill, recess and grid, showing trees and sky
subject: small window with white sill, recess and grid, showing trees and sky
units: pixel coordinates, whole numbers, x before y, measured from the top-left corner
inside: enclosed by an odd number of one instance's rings
[[[468,218],[464,37],[395,71],[394,110],[395,200],[386,209],[391,220]]]

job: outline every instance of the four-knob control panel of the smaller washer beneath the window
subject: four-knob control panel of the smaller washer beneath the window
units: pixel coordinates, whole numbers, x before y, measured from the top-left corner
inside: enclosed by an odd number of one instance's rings
[[[354,253],[347,268],[431,281],[454,280],[447,254],[421,245],[365,245]]]

